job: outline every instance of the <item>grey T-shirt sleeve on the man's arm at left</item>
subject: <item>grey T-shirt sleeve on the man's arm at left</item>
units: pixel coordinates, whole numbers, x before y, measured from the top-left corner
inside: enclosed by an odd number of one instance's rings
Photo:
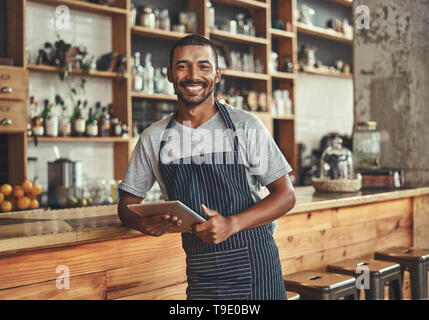
[[[150,161],[149,143],[144,143],[144,136],[140,136],[134,148],[128,169],[119,188],[137,197],[146,197],[146,193],[155,183],[155,175]],[[146,146],[145,146],[146,145]]]

